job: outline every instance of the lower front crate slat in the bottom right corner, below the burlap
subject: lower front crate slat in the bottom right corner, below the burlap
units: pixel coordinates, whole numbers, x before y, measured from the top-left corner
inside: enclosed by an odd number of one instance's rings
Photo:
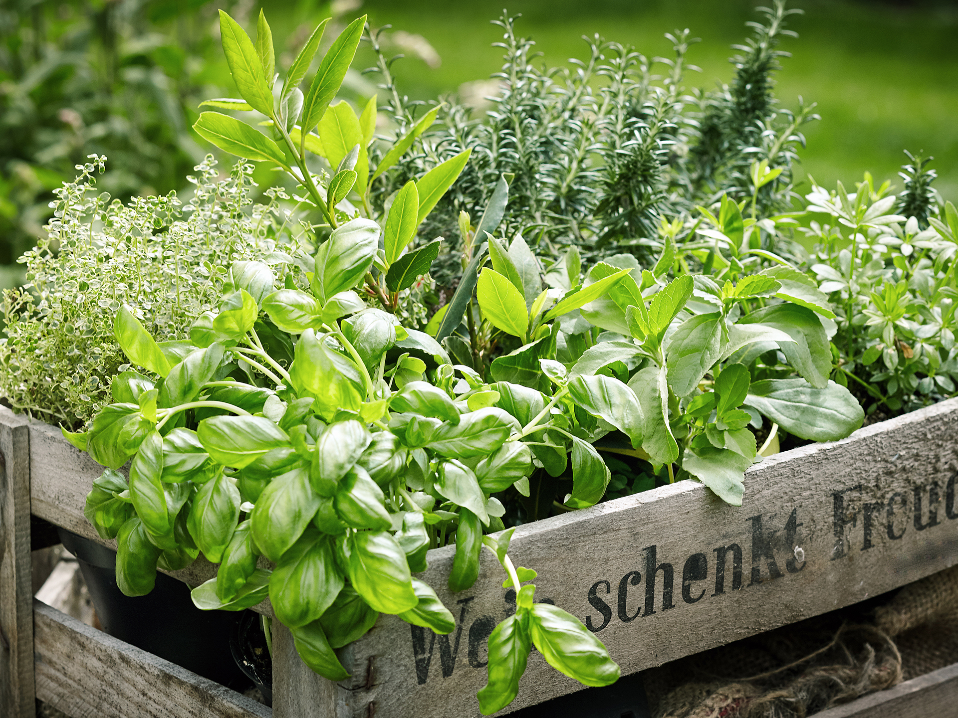
[[[947,665],[815,718],[924,718],[958,715],[958,663]]]

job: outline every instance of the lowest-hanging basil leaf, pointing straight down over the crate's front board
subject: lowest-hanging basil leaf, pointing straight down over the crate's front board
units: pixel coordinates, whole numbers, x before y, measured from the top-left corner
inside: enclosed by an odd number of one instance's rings
[[[513,614],[501,621],[489,637],[489,679],[476,697],[483,715],[492,715],[513,702],[519,679],[526,672],[532,648],[529,614]]]

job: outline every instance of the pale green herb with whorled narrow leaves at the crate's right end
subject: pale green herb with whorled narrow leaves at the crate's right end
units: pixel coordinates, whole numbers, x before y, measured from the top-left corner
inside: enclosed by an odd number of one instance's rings
[[[927,160],[909,159],[898,197],[868,174],[855,192],[838,183],[835,191],[813,185],[807,195],[810,273],[838,314],[833,376],[868,414],[940,401],[958,380],[958,212],[930,191]]]

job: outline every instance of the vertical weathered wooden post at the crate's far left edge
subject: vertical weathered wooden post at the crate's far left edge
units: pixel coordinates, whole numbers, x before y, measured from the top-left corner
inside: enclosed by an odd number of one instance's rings
[[[0,715],[32,718],[33,576],[26,421],[0,413]]]

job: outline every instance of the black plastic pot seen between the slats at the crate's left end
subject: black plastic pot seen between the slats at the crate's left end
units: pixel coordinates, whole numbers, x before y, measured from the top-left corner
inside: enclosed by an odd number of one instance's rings
[[[240,692],[249,687],[230,650],[237,614],[200,611],[190,588],[164,573],[156,574],[148,595],[124,595],[116,582],[116,551],[65,528],[57,531],[80,563],[103,631],[218,684]]]

